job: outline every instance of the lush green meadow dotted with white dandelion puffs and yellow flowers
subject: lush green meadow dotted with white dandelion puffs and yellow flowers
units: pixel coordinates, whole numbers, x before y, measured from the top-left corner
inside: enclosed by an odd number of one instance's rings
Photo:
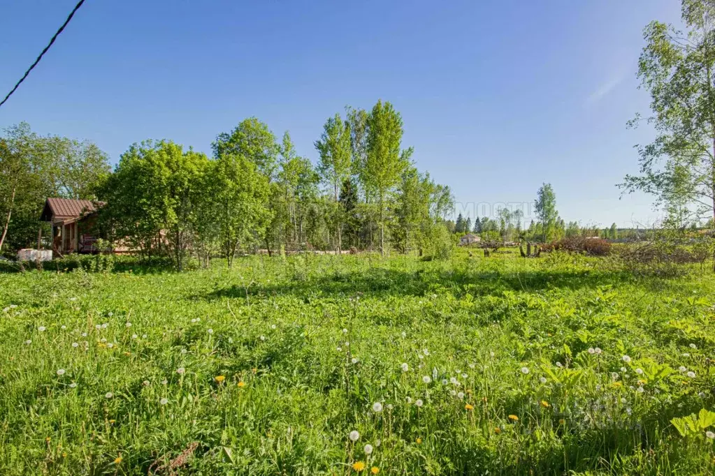
[[[715,473],[707,271],[214,264],[0,274],[0,474]]]

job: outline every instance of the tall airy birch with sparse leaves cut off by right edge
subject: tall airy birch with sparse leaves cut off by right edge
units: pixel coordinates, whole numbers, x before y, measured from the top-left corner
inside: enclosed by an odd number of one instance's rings
[[[715,3],[684,0],[685,33],[659,21],[644,30],[638,79],[651,95],[656,138],[638,146],[639,175],[619,184],[624,193],[651,193],[656,203],[694,206],[693,218],[715,216]],[[636,126],[640,116],[631,121]]]

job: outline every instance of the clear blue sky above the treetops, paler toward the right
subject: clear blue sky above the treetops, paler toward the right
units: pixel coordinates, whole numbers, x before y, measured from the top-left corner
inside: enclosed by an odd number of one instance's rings
[[[0,93],[75,0],[2,2]],[[0,128],[87,138],[112,163],[172,139],[210,153],[256,116],[315,161],[328,116],[382,98],[403,115],[418,168],[470,203],[533,202],[542,182],[566,221],[649,224],[651,198],[619,200],[648,128],[636,67],[649,21],[678,0],[87,0],[0,108]]]

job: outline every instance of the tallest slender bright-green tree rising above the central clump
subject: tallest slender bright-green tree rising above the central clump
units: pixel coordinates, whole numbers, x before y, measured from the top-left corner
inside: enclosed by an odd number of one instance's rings
[[[365,188],[377,196],[380,253],[385,255],[385,214],[395,186],[410,165],[412,148],[401,150],[403,121],[389,102],[378,101],[368,118],[367,158],[363,170]]]

